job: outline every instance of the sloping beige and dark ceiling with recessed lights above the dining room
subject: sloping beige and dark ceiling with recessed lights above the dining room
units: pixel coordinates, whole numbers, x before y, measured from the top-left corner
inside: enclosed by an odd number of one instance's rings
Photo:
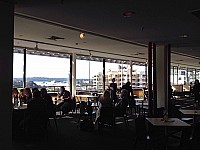
[[[16,0],[14,45],[146,62],[155,42],[171,45],[173,64],[199,67],[197,10],[194,0]]]

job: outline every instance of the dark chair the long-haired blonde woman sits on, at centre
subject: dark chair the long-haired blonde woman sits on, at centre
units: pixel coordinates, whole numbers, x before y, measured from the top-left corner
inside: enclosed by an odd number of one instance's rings
[[[103,127],[113,127],[115,125],[114,108],[113,107],[101,107],[100,116],[97,118],[98,131],[101,131]]]

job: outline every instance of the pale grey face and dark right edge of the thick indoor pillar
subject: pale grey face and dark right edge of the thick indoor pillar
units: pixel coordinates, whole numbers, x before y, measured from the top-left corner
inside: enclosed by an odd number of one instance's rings
[[[156,49],[157,108],[168,111],[170,87],[170,46],[159,45]]]

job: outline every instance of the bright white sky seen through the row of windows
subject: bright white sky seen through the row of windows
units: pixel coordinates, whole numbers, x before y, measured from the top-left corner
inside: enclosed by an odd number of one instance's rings
[[[23,77],[23,54],[14,53],[13,77]],[[68,78],[70,72],[70,61],[68,58],[58,58],[49,56],[38,56],[27,54],[27,77],[49,77],[49,78]],[[118,69],[119,64],[106,63],[106,71]],[[142,70],[144,67],[134,66],[134,69]],[[90,61],[90,78],[98,72],[102,72],[103,63]],[[76,61],[76,78],[89,78],[89,61]]]

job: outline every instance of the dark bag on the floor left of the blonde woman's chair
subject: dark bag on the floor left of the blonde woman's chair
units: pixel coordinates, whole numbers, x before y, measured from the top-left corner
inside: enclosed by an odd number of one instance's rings
[[[82,131],[91,131],[94,129],[94,123],[91,119],[85,118],[84,120],[80,121],[79,127]]]

